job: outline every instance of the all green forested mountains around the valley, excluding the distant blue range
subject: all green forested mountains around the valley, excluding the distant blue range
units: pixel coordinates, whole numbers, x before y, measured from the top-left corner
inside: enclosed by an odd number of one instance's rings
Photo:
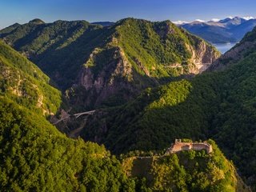
[[[256,191],[256,28],[223,55],[136,18],[0,38],[1,190]],[[175,138],[213,152],[166,154]]]

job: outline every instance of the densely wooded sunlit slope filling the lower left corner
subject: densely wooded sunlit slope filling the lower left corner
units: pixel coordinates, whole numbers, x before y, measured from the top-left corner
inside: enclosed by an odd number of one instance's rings
[[[103,146],[73,140],[45,118],[0,98],[3,191],[133,191]]]

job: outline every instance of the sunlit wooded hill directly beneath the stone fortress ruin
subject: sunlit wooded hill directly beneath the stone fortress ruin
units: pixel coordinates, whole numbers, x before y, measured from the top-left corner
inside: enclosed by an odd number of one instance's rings
[[[138,179],[138,191],[250,191],[234,166],[214,144],[212,154],[182,151],[153,157],[130,157],[122,161],[126,174]]]

